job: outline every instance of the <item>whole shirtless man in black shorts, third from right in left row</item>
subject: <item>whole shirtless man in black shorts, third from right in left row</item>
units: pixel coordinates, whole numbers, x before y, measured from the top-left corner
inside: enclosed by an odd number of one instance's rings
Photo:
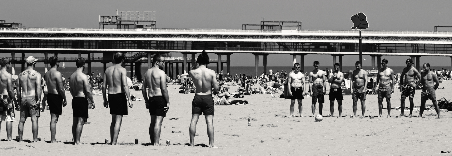
[[[118,141],[122,116],[127,115],[127,103],[129,104],[129,108],[132,108],[129,86],[127,85],[127,70],[122,67],[124,64],[124,54],[117,52],[114,55],[114,60],[115,64],[105,70],[105,79],[102,85],[104,107],[108,108],[110,106],[110,114],[112,115],[112,123],[110,124],[111,145],[116,145],[116,141]]]

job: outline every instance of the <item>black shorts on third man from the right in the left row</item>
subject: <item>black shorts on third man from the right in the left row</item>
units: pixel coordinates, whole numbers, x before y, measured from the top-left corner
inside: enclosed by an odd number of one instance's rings
[[[124,93],[108,94],[110,114],[127,115],[127,97]]]

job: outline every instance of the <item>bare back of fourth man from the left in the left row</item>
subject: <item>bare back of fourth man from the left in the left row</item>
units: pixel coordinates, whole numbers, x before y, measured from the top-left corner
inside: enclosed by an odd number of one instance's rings
[[[86,88],[88,86],[88,76],[82,72],[74,72],[69,79],[69,91],[72,97],[86,97]]]

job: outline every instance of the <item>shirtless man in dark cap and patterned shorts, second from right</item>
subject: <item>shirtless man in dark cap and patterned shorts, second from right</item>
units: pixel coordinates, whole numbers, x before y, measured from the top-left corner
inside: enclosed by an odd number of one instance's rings
[[[413,67],[413,60],[406,59],[406,67],[403,69],[402,75],[400,76],[400,87],[402,87],[402,96],[400,97],[400,116],[403,116],[405,110],[405,99],[406,97],[410,100],[410,115],[412,117],[413,107],[414,107],[414,92],[416,91],[416,84],[414,82],[414,76],[418,78],[421,74],[416,68]],[[405,80],[405,81],[404,81]]]

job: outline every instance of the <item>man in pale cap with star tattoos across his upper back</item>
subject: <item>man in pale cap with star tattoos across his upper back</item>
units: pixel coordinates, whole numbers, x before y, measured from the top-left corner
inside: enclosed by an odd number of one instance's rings
[[[17,101],[20,101],[20,121],[18,125],[19,142],[24,141],[24,124],[31,118],[33,141],[38,142],[38,119],[41,106],[41,74],[34,70],[37,59],[29,56],[26,60],[27,69],[19,74],[17,83]]]

